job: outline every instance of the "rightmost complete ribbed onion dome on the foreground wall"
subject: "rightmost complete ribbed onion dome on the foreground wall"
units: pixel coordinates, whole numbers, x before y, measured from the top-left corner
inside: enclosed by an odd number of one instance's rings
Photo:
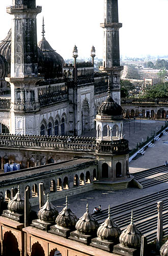
[[[120,244],[129,248],[141,246],[142,233],[133,223],[133,211],[131,214],[131,223],[120,235]]]

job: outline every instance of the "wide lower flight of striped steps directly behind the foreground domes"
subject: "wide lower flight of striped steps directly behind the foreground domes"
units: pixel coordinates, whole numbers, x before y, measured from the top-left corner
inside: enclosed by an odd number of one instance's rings
[[[164,236],[168,235],[168,191],[161,190],[139,199],[135,199],[110,208],[111,218],[124,230],[130,224],[131,210],[133,209],[133,220],[148,242],[156,239],[157,233],[157,202],[163,201],[163,230]],[[98,223],[102,223],[108,217],[108,209],[98,214],[93,214]]]

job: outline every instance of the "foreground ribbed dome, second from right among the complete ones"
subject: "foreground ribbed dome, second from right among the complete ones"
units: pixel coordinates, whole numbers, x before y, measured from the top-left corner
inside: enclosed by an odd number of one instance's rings
[[[99,239],[109,242],[115,242],[119,239],[121,229],[116,225],[113,219],[110,219],[110,206],[108,207],[108,218],[103,222],[97,230]]]

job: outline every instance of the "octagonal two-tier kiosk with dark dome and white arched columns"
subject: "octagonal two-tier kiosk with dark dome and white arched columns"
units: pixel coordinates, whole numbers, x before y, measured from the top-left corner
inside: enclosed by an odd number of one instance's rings
[[[98,178],[94,181],[99,189],[122,189],[128,186],[133,176],[129,175],[128,140],[123,134],[123,110],[113,100],[108,82],[108,96],[98,106],[96,115],[96,154]],[[106,184],[106,186],[104,186]]]

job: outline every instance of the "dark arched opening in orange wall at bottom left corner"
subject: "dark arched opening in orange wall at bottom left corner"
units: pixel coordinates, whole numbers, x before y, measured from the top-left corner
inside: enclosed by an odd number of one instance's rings
[[[17,239],[11,231],[7,231],[4,234],[3,251],[4,251],[4,254],[3,254],[4,256],[10,256],[10,255],[20,256]]]

